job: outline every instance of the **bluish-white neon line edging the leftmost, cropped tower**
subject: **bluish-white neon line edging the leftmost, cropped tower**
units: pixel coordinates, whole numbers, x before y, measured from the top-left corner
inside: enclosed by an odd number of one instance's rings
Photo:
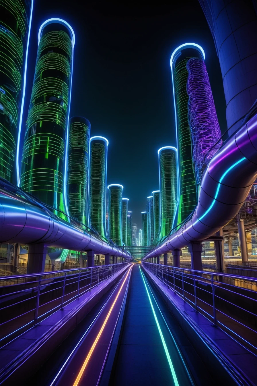
[[[30,39],[30,30],[31,30],[31,22],[32,22],[33,3],[34,3],[34,0],[31,0],[31,11],[30,11],[30,19],[29,19],[29,32],[28,32],[28,40],[27,40],[27,48],[26,48],[26,56],[25,56],[25,66],[24,66],[24,82],[23,82],[22,104],[21,104],[21,107],[20,107],[20,120],[19,120],[19,125],[18,125],[17,150],[16,150],[17,186],[20,186],[20,168],[19,168],[20,134],[21,134],[21,129],[22,129],[22,117],[23,117],[23,109],[24,109],[24,101],[25,101],[25,90],[26,90],[26,80],[27,80],[27,64],[28,64],[28,53],[29,53],[29,39]]]

